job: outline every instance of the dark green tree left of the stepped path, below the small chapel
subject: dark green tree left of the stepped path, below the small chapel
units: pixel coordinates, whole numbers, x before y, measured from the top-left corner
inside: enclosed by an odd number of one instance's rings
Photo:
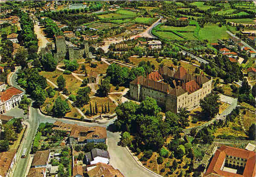
[[[90,87],[84,87],[77,91],[75,104],[82,107],[84,104],[88,104],[90,101],[89,93],[91,92]]]

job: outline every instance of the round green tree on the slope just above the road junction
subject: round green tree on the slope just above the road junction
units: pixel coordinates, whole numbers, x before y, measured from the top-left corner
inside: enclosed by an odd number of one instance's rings
[[[67,103],[67,100],[62,100],[59,96],[57,99],[55,99],[55,102],[52,107],[53,115],[56,117],[62,117],[65,116],[67,112],[71,110],[70,106]]]

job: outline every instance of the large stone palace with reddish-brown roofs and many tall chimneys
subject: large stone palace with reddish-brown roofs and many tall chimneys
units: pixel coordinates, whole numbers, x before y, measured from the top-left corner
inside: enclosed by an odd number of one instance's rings
[[[164,82],[164,81],[167,81]],[[169,84],[170,83],[170,84]],[[154,98],[166,111],[178,112],[179,107],[192,108],[212,91],[212,79],[204,74],[190,74],[183,67],[160,67],[130,82],[130,96],[142,101]]]

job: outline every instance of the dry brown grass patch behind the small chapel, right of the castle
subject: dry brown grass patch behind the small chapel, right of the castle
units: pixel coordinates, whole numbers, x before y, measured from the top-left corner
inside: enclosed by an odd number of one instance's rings
[[[83,63],[83,64],[85,65],[87,75],[89,75],[90,72],[92,71],[94,71],[96,74],[105,74],[108,68],[108,64],[105,64],[102,61],[93,62],[93,64],[98,65],[96,68],[90,67],[90,63]],[[78,70],[74,71],[74,73],[84,74],[83,70],[81,70],[81,67],[83,64],[79,64]]]

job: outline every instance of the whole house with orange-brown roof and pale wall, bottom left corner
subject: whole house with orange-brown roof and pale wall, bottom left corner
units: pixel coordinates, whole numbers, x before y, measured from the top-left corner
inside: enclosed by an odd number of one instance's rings
[[[17,149],[0,153],[0,177],[9,177],[17,162]]]

